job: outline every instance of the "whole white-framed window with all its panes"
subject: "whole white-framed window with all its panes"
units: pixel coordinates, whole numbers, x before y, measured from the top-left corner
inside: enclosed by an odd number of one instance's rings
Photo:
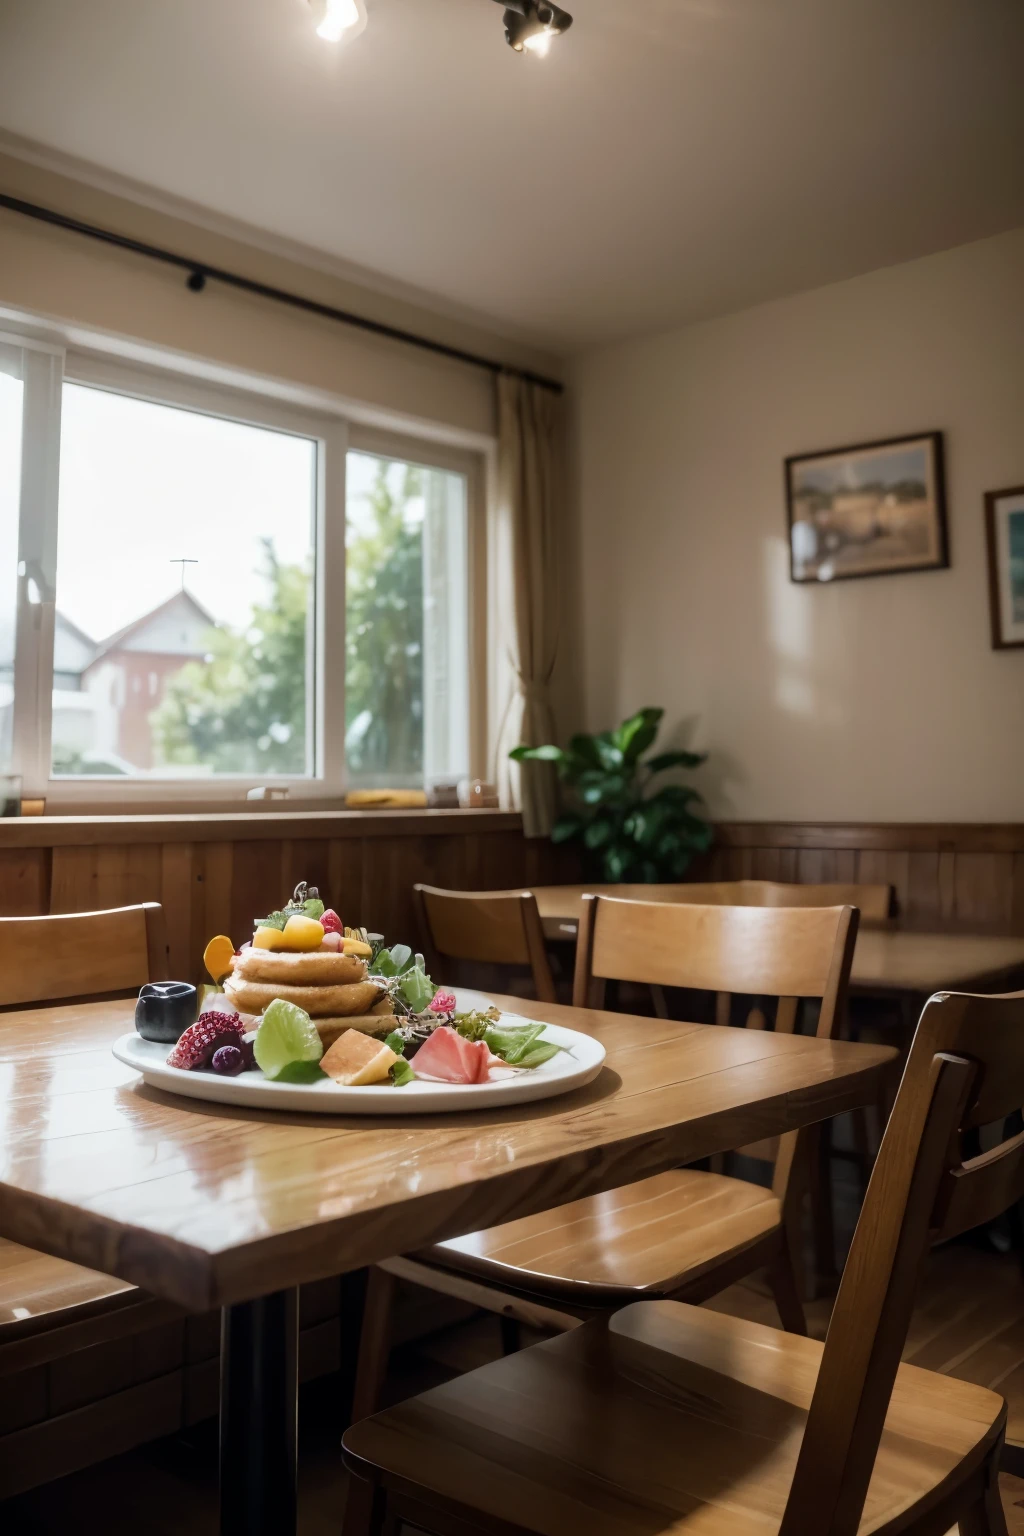
[[[0,341],[0,773],[51,806],[479,773],[481,461],[348,436]]]

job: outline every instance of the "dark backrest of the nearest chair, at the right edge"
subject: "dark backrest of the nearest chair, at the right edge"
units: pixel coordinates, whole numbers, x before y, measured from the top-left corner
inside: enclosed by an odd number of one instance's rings
[[[1024,992],[936,992],[910,1046],[854,1233],[780,1536],[854,1536],[927,1247],[1024,1197],[1024,1132],[963,1132],[1024,1104]]]

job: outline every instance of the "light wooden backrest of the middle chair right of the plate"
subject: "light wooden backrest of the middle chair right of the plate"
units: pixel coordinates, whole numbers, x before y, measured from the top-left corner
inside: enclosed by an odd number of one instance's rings
[[[715,992],[715,1017],[729,1021],[734,992],[775,997],[775,1032],[792,1034],[800,998],[821,1000],[817,1035],[831,1040],[846,1014],[854,945],[854,906],[689,906],[585,895],[576,945],[576,1008],[600,1008],[605,982],[648,982]],[[765,1018],[754,1009],[761,1028]],[[811,1132],[812,1137],[812,1132]],[[772,1193],[786,1220],[803,1193],[811,1146],[791,1130],[777,1143],[740,1147],[774,1161]]]

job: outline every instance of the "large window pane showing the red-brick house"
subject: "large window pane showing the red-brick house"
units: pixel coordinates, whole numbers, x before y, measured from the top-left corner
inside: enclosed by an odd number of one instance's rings
[[[316,442],[66,384],[55,774],[313,771]]]

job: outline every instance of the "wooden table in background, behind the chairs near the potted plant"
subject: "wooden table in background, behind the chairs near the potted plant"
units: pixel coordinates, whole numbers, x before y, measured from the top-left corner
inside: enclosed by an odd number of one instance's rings
[[[585,885],[539,885],[533,888],[545,938],[573,943]],[[597,889],[614,894],[614,886]],[[643,888],[629,886],[639,899]],[[676,888],[654,886],[654,900],[671,900]],[[858,992],[903,995],[909,1000],[932,992],[987,992],[1024,982],[1024,937],[998,934],[927,934],[901,928],[861,928],[854,951],[851,988]]]

